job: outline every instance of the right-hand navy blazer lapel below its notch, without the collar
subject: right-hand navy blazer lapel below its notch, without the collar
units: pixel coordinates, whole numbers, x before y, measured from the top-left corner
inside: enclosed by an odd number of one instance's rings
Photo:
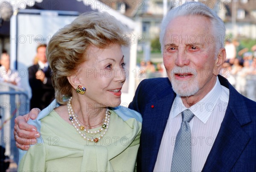
[[[228,109],[202,171],[230,171],[249,141],[250,137]]]

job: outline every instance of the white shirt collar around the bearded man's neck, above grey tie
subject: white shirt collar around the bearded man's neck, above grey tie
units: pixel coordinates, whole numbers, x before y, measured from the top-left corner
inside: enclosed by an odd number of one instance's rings
[[[182,111],[189,109],[192,111],[192,113],[194,113],[197,118],[199,118],[204,124],[206,124],[212,113],[212,110],[214,109],[215,105],[218,102],[218,99],[221,96],[221,90],[221,84],[217,77],[217,80],[212,90],[198,103],[194,104],[189,108],[185,107],[180,96],[176,96],[172,104],[170,117],[175,118],[175,116],[179,115]]]

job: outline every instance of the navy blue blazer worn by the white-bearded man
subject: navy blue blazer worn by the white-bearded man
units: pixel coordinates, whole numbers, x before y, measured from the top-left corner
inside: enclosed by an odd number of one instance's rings
[[[238,93],[224,77],[218,78],[230,91],[229,102],[202,172],[256,172],[256,102]],[[154,169],[175,96],[168,78],[145,79],[137,87],[129,108],[143,117],[138,172]]]

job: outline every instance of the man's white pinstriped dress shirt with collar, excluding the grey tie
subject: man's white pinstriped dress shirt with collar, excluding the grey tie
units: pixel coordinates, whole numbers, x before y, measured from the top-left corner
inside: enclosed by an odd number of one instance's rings
[[[194,118],[191,129],[192,172],[201,172],[221,127],[229,100],[229,90],[218,80],[212,90],[197,104],[189,107]],[[182,121],[181,112],[187,108],[180,96],[176,96],[166,124],[154,172],[170,172],[175,138]]]

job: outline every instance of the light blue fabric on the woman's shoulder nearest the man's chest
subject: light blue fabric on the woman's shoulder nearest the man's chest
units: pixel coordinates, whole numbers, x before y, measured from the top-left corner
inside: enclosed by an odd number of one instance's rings
[[[140,123],[142,122],[142,116],[140,115],[140,113],[136,112],[135,110],[131,110],[128,107],[112,107],[111,110],[113,110],[124,121],[127,121],[131,118],[135,118]]]

